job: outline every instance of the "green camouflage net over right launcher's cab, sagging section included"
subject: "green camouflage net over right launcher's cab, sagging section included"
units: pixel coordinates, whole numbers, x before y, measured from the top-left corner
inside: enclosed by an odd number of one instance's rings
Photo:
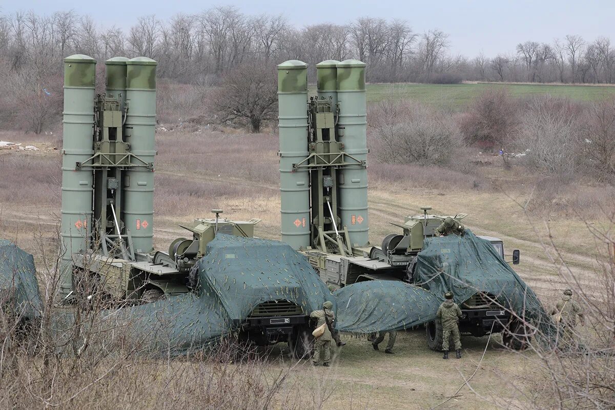
[[[386,280],[355,283],[334,295],[337,328],[352,333],[406,329],[434,320],[444,293],[453,291],[458,304],[477,292],[539,329],[552,344],[555,326],[534,292],[518,277],[487,240],[469,229],[463,237],[428,238],[416,259],[414,286]]]

